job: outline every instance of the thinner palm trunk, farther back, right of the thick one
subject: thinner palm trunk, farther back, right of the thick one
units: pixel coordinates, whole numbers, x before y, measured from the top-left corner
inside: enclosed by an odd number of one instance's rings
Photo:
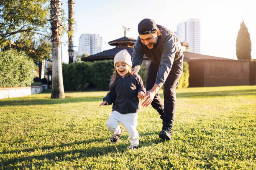
[[[73,58],[74,58],[74,50],[73,50],[73,31],[74,31],[74,0],[68,0],[69,4],[69,63],[73,63]]]

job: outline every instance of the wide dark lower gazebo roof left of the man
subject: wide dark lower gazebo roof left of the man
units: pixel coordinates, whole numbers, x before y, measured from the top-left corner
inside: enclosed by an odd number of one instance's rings
[[[82,61],[111,60],[111,59],[113,60],[115,55],[121,50],[127,50],[130,55],[132,55],[133,53],[133,47],[122,46],[122,47],[115,47],[110,50],[105,50],[97,54],[90,55],[88,57],[83,57],[81,58],[81,60]]]

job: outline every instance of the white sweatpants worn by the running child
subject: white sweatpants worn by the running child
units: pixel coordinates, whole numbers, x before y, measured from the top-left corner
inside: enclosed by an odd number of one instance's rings
[[[138,113],[121,114],[114,110],[105,125],[113,135],[118,135],[121,133],[118,124],[121,123],[129,135],[128,139],[131,145],[138,146],[138,131],[136,130],[138,125],[137,118]]]

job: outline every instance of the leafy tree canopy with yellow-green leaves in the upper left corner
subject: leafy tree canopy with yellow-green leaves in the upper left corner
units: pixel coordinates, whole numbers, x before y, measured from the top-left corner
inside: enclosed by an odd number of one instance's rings
[[[26,33],[49,35],[48,0],[0,0],[0,47]]]

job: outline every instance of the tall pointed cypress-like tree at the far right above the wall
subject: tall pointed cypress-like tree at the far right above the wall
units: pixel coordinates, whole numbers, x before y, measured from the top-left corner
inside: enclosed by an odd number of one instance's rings
[[[251,60],[251,39],[244,21],[236,37],[236,57],[238,60]]]

